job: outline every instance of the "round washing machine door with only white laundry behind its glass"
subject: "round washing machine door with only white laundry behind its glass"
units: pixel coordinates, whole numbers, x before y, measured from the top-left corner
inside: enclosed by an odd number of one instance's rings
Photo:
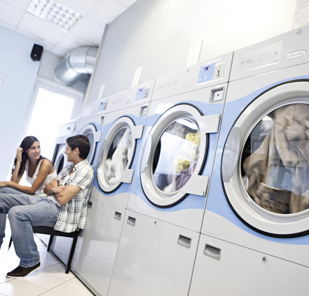
[[[136,126],[129,117],[117,119],[109,128],[99,152],[97,178],[100,188],[111,193],[124,183],[131,183],[130,169],[136,139],[142,136],[143,125]]]

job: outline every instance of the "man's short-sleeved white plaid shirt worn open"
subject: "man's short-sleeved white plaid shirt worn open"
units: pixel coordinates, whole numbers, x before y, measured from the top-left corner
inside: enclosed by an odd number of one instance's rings
[[[65,178],[73,168],[69,179]],[[67,179],[67,181],[65,181]],[[87,205],[93,184],[93,169],[87,159],[66,166],[57,175],[56,180],[59,186],[75,185],[82,188],[67,204],[61,205],[60,213],[54,227],[55,230],[73,232],[76,228],[84,228],[86,224]]]

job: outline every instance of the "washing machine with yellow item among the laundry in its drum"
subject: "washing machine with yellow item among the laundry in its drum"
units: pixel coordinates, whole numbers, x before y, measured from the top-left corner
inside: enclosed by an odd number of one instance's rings
[[[156,79],[109,295],[188,294],[232,56]]]

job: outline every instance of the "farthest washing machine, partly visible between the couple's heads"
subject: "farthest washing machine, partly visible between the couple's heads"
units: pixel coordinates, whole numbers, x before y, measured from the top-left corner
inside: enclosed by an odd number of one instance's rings
[[[78,121],[78,118],[72,119],[66,124],[61,125],[58,129],[56,146],[52,158],[52,163],[57,174],[68,164],[67,156],[64,153],[66,151],[66,139],[76,134]]]

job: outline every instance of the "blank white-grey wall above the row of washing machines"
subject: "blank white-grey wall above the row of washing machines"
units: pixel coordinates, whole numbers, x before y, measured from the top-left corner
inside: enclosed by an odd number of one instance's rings
[[[203,39],[200,62],[293,29],[296,0],[138,0],[108,25],[88,101],[184,68]]]

